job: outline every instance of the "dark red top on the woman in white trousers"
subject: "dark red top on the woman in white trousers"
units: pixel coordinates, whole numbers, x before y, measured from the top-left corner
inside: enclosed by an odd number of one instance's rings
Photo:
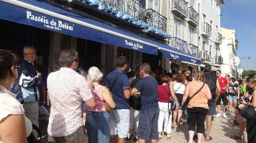
[[[169,85],[158,85],[158,101],[159,102],[170,102],[170,89]],[[164,90],[165,89],[165,90]]]

